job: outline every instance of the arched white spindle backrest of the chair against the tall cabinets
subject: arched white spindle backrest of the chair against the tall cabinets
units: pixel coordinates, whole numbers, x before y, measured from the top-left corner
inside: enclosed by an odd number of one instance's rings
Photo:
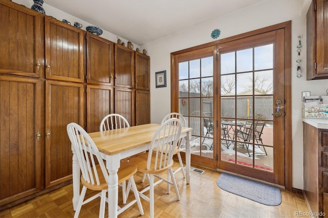
[[[128,120],[119,114],[109,114],[100,122],[100,131],[130,127]]]

